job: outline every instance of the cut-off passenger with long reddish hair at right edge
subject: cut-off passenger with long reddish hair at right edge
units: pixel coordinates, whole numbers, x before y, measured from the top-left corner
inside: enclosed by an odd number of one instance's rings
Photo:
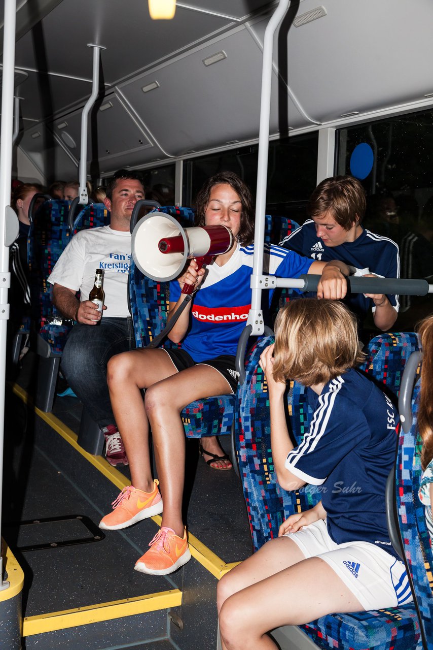
[[[419,489],[419,499],[425,506],[425,519],[433,542],[433,316],[425,318],[418,327],[423,348],[423,371],[418,407],[418,428],[423,439],[421,465],[423,476]]]

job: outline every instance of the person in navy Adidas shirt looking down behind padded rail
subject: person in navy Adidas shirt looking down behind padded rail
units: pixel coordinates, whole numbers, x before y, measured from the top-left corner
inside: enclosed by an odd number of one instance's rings
[[[361,225],[365,213],[365,191],[358,179],[351,176],[325,179],[310,197],[307,213],[311,220],[286,237],[281,246],[313,259],[341,259],[356,267],[356,275],[399,278],[397,244],[365,230]],[[357,315],[361,326],[371,308],[375,326],[386,331],[397,318],[398,298],[383,294],[353,294],[345,302]]]

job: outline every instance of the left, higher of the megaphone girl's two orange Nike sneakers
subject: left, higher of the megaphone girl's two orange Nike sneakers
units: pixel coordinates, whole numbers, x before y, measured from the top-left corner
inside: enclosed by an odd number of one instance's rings
[[[143,492],[134,486],[124,487],[118,498],[112,502],[112,506],[113,512],[101,519],[99,528],[120,530],[147,517],[159,515],[162,512],[162,498],[158,481],[154,480],[151,492]]]

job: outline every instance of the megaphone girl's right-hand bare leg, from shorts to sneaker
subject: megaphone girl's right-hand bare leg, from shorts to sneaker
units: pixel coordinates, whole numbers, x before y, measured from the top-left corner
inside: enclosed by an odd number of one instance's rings
[[[175,534],[181,537],[184,532],[185,430],[180,413],[194,400],[229,392],[229,383],[216,369],[196,365],[154,383],[145,394],[145,411],[152,428],[156,467],[164,500],[162,525],[173,528]]]

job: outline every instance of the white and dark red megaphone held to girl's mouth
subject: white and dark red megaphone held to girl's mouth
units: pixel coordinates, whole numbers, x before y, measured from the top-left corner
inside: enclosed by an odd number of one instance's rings
[[[143,217],[132,231],[131,252],[140,271],[156,281],[179,277],[187,259],[194,257],[201,268],[214,255],[227,253],[234,237],[222,225],[182,228],[172,216],[153,212]],[[182,293],[190,294],[193,285],[185,284]]]

